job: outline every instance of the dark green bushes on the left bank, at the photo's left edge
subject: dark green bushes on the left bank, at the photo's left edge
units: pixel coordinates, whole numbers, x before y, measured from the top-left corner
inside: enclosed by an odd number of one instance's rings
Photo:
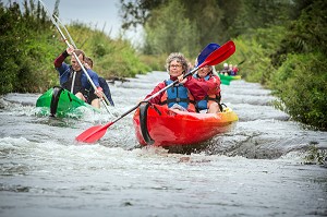
[[[22,14],[19,4],[0,7],[0,94],[9,92],[40,92],[53,77],[46,59],[58,52],[53,29],[39,7]],[[50,74],[50,73],[49,73]],[[28,84],[28,85],[26,85]]]

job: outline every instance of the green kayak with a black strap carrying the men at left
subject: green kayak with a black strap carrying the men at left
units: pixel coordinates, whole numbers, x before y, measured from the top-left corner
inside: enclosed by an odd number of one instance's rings
[[[38,114],[51,117],[76,117],[83,116],[83,109],[100,112],[99,109],[86,104],[71,92],[62,87],[53,87],[44,93],[36,101],[39,107]]]

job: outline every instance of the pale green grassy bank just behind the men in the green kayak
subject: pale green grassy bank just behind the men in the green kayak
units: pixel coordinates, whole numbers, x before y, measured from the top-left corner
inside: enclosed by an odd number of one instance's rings
[[[68,31],[76,46],[94,60],[94,70],[105,79],[135,76],[152,69],[141,61],[130,41],[111,39],[97,29],[73,23]]]

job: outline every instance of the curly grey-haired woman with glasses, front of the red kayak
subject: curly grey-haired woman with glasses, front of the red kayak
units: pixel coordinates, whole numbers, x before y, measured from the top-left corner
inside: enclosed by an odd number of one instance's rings
[[[201,100],[207,95],[207,87],[199,85],[193,76],[183,79],[183,75],[189,72],[189,67],[186,59],[180,52],[173,52],[167,58],[166,69],[169,79],[159,83],[145,98],[179,80],[179,83],[152,98],[149,103],[195,112],[195,100]]]

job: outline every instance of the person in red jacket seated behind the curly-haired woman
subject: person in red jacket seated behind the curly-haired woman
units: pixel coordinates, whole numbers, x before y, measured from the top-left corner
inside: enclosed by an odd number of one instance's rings
[[[196,100],[196,109],[207,111],[207,113],[217,113],[220,111],[220,79],[213,73],[211,65],[205,65],[201,68],[194,77],[207,87],[207,95],[202,100]]]

